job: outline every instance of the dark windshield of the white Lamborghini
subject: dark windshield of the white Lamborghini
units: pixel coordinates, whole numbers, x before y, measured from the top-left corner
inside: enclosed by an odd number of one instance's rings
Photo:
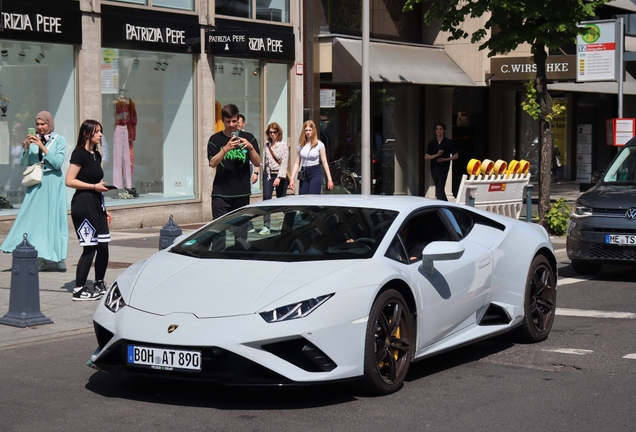
[[[397,214],[350,207],[248,207],[202,228],[171,252],[285,262],[370,258]],[[269,232],[263,233],[267,224]]]

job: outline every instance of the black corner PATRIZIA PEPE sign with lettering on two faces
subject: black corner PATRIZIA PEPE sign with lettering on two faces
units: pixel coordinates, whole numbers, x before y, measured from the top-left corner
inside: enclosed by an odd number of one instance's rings
[[[260,33],[255,30],[215,31],[206,33],[208,54],[293,61],[294,35]]]

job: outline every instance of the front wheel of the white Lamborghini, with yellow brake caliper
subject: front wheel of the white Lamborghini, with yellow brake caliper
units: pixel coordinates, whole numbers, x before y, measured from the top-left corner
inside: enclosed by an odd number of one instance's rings
[[[364,347],[362,390],[385,395],[399,390],[413,357],[413,322],[404,297],[389,289],[369,313]]]

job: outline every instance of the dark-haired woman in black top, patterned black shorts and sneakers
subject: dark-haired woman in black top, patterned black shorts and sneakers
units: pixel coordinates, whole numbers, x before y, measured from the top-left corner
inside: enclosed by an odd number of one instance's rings
[[[101,140],[102,125],[96,120],[84,121],[66,173],[66,186],[76,189],[71,200],[71,218],[80,246],[84,248],[77,263],[73,290],[73,300],[77,301],[98,300],[106,292],[104,275],[110,242],[108,225],[112,217],[104,205],[104,192],[108,188],[102,181],[102,155],[97,151]],[[91,290],[86,286],[86,279],[95,254],[95,283]]]

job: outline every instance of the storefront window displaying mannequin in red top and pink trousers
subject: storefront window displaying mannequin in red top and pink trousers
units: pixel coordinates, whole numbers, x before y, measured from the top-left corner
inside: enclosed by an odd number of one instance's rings
[[[111,205],[195,198],[191,55],[102,49],[102,124]]]

